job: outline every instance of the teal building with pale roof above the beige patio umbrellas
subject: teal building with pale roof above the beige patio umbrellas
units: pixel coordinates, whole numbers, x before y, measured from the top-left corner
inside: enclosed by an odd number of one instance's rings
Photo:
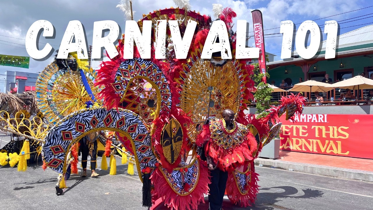
[[[373,25],[368,25],[337,37],[336,56],[325,59],[326,41],[320,43],[321,49],[311,59],[303,59],[293,52],[291,59],[267,63],[270,79],[279,86],[284,79],[289,86],[303,81],[322,81],[325,74],[335,81],[361,75],[373,76]]]

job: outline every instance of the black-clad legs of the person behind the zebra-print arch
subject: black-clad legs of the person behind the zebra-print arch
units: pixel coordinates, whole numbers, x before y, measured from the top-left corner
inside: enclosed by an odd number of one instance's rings
[[[83,174],[82,177],[87,176],[87,160],[88,154],[91,156],[91,170],[92,174],[91,177],[98,176],[99,174],[96,173],[96,157],[97,157],[97,134],[93,133],[93,135],[84,136],[80,141],[80,152],[82,153],[82,167],[83,167]]]

